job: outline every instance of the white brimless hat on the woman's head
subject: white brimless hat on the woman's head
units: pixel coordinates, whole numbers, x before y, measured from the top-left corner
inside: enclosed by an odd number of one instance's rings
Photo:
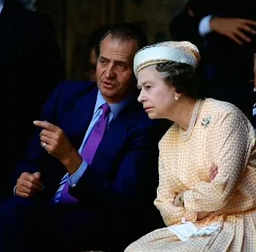
[[[198,47],[188,41],[166,41],[145,46],[134,56],[134,74],[142,68],[164,62],[186,63],[197,67],[200,61]]]

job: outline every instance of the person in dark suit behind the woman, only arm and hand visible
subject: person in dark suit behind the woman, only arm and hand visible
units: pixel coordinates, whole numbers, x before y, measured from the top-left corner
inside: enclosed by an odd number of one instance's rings
[[[169,26],[172,38],[198,45],[207,96],[234,103],[250,120],[256,47],[253,3],[191,0]]]

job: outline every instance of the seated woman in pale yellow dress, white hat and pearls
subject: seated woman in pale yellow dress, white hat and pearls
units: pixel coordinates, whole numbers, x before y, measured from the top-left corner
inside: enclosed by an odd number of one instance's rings
[[[167,227],[126,252],[256,251],[255,131],[236,106],[198,97],[199,58],[190,42],[161,42],[135,55],[138,101],[150,118],[174,125],[159,142],[154,201]]]

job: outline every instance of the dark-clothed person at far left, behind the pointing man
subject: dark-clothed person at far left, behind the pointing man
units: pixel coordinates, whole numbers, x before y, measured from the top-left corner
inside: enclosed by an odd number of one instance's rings
[[[18,1],[0,0],[1,142],[4,146],[0,198],[12,193],[8,188],[14,167],[34,134],[31,122],[62,78],[60,52],[48,18],[26,10]],[[17,126],[21,117],[22,123]]]

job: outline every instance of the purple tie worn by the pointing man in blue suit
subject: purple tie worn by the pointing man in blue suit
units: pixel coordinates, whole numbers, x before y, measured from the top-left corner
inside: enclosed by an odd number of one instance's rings
[[[107,126],[107,118],[108,114],[110,114],[110,106],[105,103],[102,105],[102,115],[100,118],[98,118],[98,122],[96,122],[94,129],[91,131],[89,138],[87,139],[87,142],[85,146],[82,149],[82,158],[88,162],[88,164],[91,164],[91,162],[94,159],[94,154],[98,148],[99,143],[102,141],[103,134],[105,132],[106,126]],[[62,203],[76,203],[78,200],[76,198],[73,198],[69,193],[69,182],[66,181],[62,193],[60,195],[60,198],[58,199],[58,202]]]

